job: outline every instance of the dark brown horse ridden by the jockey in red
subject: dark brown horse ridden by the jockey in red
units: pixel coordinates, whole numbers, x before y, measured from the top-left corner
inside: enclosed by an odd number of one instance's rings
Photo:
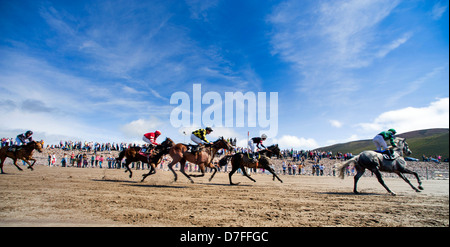
[[[141,161],[142,163],[147,163],[151,166],[150,172],[148,175],[155,174],[155,166],[160,162],[162,156],[164,154],[167,154],[168,147],[171,147],[173,145],[173,141],[170,138],[166,138],[164,142],[162,142],[160,145],[156,146],[156,148],[153,150],[152,155],[147,157],[146,155],[143,155],[141,151],[141,147],[129,147],[122,152],[119,153],[119,157],[116,158],[116,162],[119,164],[122,162],[122,159],[126,157],[125,161],[125,173],[130,173],[130,178],[133,177],[133,172],[130,169],[130,164],[132,162]],[[145,177],[147,177],[145,176]],[[143,181],[143,180],[142,180]]]

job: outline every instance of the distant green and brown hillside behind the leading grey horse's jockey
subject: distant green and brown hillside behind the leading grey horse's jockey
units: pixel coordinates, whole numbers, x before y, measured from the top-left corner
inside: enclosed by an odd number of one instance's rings
[[[420,159],[423,154],[425,156],[442,155],[443,159],[449,157],[449,129],[416,130],[398,136],[406,138],[409,148],[413,152],[411,157]],[[358,154],[364,150],[374,149],[375,145],[372,140],[361,140],[321,147],[316,150]]]

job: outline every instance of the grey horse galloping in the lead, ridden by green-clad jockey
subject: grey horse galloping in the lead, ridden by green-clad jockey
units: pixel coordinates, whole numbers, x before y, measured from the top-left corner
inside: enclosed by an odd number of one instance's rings
[[[388,159],[383,156],[382,153],[376,152],[376,151],[363,151],[357,156],[351,158],[350,160],[342,163],[338,166],[339,171],[339,177],[341,179],[344,179],[344,173],[345,169],[353,164],[356,168],[356,175],[354,177],[354,187],[353,187],[353,193],[359,194],[357,190],[357,184],[359,178],[364,174],[365,170],[368,169],[372,171],[375,176],[378,179],[378,182],[390,193],[391,195],[395,196],[395,192],[391,191],[386,184],[383,181],[383,178],[381,176],[380,171],[382,172],[389,172],[389,173],[396,173],[399,177],[401,177],[406,183],[408,183],[413,190],[416,192],[420,192],[423,190],[422,182],[420,181],[419,175],[411,171],[406,166],[406,161],[403,158],[403,153],[406,155],[411,155],[412,152],[409,149],[408,143],[406,142],[405,138],[396,137],[394,139],[394,142],[397,147],[393,148],[394,151],[394,159]],[[417,182],[419,183],[419,189],[414,187],[411,182],[403,175],[404,173],[413,174]]]

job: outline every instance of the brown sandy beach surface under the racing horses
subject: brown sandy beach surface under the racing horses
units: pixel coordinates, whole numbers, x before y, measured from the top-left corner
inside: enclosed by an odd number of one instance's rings
[[[9,164],[8,164],[9,163]],[[375,177],[281,175],[284,183],[236,173],[194,178],[146,171],[48,167],[18,171],[10,162],[0,175],[0,226],[449,226],[449,180],[423,180],[414,192],[399,178],[386,178],[391,196]],[[415,179],[410,179],[417,185]]]

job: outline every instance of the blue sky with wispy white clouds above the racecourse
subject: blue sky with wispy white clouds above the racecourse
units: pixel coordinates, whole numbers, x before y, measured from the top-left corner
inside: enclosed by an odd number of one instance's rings
[[[448,1],[0,1],[0,136],[132,142],[173,93],[278,92],[310,149],[449,127]],[[192,100],[192,99],[191,99]],[[205,110],[209,105],[202,106]],[[262,128],[217,127],[210,139]]]

